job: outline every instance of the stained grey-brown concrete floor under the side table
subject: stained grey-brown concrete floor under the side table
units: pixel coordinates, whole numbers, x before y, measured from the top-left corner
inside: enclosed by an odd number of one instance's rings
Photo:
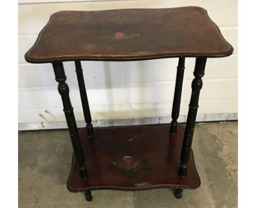
[[[67,130],[19,133],[19,207],[237,207],[237,122],[196,124],[193,150],[201,186],[176,199],[171,189],[71,193]]]

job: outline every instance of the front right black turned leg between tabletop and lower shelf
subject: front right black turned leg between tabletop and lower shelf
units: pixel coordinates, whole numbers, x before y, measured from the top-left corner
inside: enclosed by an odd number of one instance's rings
[[[184,139],[182,144],[182,152],[181,152],[181,165],[179,166],[179,173],[178,175],[181,177],[185,177],[187,174],[187,168],[188,168],[188,160],[190,155],[190,149],[194,134],[194,127],[195,127],[195,121],[196,121],[196,113],[199,101],[199,94],[200,90],[202,88],[202,76],[205,75],[205,65],[206,65],[206,58],[205,57],[199,57],[196,58],[195,63],[195,70],[194,70],[194,76],[192,82],[192,93],[189,103],[189,112],[188,112],[188,118],[187,118],[187,124],[185,128],[184,133]]]

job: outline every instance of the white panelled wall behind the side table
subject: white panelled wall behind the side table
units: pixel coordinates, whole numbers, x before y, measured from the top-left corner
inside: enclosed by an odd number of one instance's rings
[[[30,64],[24,59],[25,52],[33,45],[49,16],[59,10],[168,8],[188,5],[205,8],[220,27],[225,39],[234,47],[234,54],[228,58],[207,60],[198,114],[237,112],[237,1],[49,2],[19,2],[19,123],[65,121],[51,65]],[[187,58],[180,115],[187,115],[188,112],[194,63],[193,58]],[[177,64],[178,59],[83,62],[92,119],[169,119]],[[64,65],[75,117],[83,120],[74,63],[66,62]]]

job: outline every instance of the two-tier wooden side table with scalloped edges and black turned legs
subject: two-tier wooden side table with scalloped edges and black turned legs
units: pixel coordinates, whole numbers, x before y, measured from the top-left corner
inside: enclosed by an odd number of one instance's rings
[[[63,102],[74,154],[71,192],[197,188],[191,143],[207,58],[227,57],[232,46],[200,7],[59,11],[50,16],[25,54],[30,63],[51,63]],[[171,125],[97,127],[91,124],[81,61],[130,61],[178,57]],[[195,57],[195,78],[185,128],[178,125],[185,58]],[[63,62],[74,61],[86,128],[78,131]],[[159,70],[160,72],[160,70]]]

